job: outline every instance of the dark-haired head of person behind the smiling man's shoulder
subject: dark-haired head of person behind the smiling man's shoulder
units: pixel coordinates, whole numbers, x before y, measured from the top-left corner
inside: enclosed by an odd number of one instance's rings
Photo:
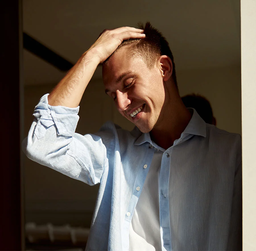
[[[205,97],[193,93],[181,97],[181,100],[187,108],[194,108],[205,123],[216,125],[216,118],[213,116],[212,106]]]

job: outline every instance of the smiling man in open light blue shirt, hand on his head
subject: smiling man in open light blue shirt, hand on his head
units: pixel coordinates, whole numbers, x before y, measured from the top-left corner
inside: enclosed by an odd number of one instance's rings
[[[100,183],[87,250],[239,250],[240,135],[184,106],[167,41],[149,23],[140,28],[102,32],[41,98],[24,150],[72,178]],[[99,63],[106,93],[136,125],[131,132],[108,122],[96,134],[75,133]]]

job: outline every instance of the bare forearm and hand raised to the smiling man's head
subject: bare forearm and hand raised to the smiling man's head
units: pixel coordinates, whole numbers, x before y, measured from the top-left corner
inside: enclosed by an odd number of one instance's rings
[[[48,96],[52,106],[77,107],[89,81],[99,63],[104,62],[115,49],[130,38],[144,38],[143,30],[121,27],[104,30],[95,43],[79,58],[66,76],[58,83]]]

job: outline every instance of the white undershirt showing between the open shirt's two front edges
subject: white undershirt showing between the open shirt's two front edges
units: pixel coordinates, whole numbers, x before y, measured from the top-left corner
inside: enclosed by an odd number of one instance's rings
[[[155,150],[129,229],[129,250],[162,250],[158,175],[163,152]]]

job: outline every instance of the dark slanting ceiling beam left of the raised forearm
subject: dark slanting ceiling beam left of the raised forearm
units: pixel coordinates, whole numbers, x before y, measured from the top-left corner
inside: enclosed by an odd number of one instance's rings
[[[36,41],[36,39],[25,32],[23,32],[23,47],[63,72],[68,71],[74,66],[74,64]]]

